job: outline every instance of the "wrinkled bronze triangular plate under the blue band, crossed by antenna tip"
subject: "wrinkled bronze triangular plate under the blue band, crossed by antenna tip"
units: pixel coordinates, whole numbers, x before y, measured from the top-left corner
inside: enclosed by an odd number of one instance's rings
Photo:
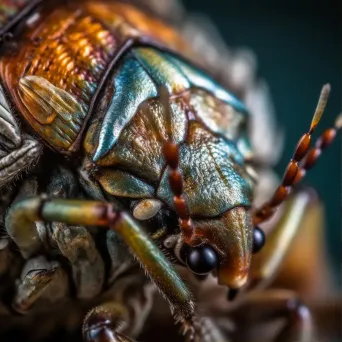
[[[171,128],[174,139],[181,142],[186,128],[182,99],[175,99],[171,105],[173,116]],[[98,161],[100,166],[120,166],[150,182],[158,182],[164,166],[163,142],[167,139],[166,117],[158,101],[150,101],[139,110],[122,131],[111,151]],[[159,137],[163,137],[160,141]]]

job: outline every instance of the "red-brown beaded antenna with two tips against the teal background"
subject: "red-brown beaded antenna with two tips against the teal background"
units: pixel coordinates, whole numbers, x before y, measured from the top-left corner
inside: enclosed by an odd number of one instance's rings
[[[328,147],[334,140],[337,131],[342,127],[342,116],[336,120],[335,127],[327,129],[317,140],[316,146],[309,151],[311,144],[311,135],[316,129],[330,93],[330,85],[323,86],[318,100],[316,111],[313,115],[311,126],[308,133],[305,133],[299,140],[292,159],[290,160],[283,180],[273,194],[269,202],[266,202],[253,213],[253,223],[258,225],[270,219],[276,208],[288,197],[292,187],[297,184],[317,161],[323,149]]]

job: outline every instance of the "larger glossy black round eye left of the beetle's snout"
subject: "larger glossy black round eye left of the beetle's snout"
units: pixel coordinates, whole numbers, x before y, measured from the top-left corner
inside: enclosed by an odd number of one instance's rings
[[[195,274],[208,274],[218,266],[217,254],[210,246],[184,246],[181,254],[188,268]]]

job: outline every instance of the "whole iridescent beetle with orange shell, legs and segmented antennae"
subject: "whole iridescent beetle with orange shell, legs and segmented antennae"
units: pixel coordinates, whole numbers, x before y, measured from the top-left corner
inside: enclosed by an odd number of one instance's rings
[[[258,226],[341,127],[310,150],[329,86],[281,184],[255,207],[249,113],[173,28],[124,1],[24,5],[5,5],[1,30],[2,310],[68,320],[66,307],[93,306],[85,341],[131,341],[157,288],[189,340],[216,341],[173,263],[214,274],[230,300],[269,280],[312,196],[291,196],[264,248]],[[294,299],[252,298],[288,315],[277,341],[310,320]]]

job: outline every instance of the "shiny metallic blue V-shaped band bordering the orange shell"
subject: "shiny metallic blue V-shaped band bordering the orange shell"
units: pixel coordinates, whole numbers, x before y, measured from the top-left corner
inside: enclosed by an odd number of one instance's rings
[[[133,49],[114,73],[113,83],[115,93],[101,125],[98,147],[93,156],[95,162],[111,151],[139,105],[157,96],[159,85],[167,86],[173,94],[191,87],[202,88],[237,111],[247,113],[240,101],[202,71],[150,47]]]

